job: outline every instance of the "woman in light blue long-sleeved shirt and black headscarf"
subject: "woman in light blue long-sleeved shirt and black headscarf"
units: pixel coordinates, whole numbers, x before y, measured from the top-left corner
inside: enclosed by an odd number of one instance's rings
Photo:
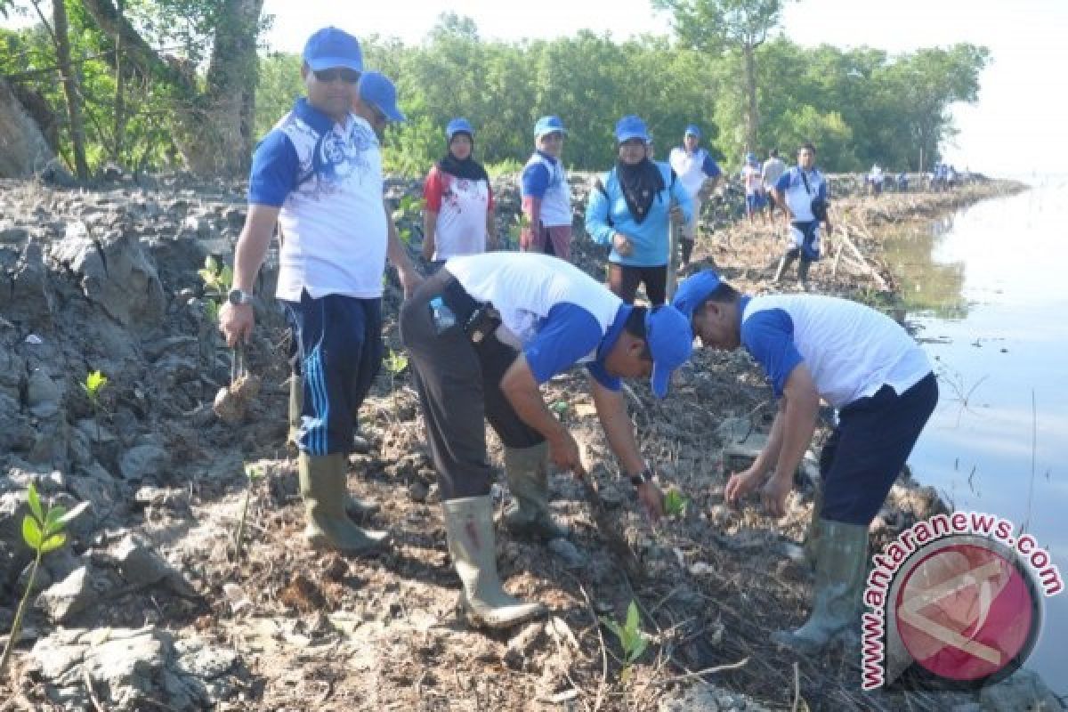
[[[671,221],[689,220],[693,202],[668,163],[649,160],[645,122],[624,116],[615,125],[615,140],[618,159],[590,193],[586,232],[612,248],[609,289],[632,304],[644,284],[657,306],[666,297]]]

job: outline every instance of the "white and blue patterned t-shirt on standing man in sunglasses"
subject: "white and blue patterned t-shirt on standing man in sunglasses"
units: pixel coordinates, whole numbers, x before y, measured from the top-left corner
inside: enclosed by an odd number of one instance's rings
[[[382,295],[388,239],[378,138],[301,98],[256,147],[249,203],[280,207],[279,299]]]

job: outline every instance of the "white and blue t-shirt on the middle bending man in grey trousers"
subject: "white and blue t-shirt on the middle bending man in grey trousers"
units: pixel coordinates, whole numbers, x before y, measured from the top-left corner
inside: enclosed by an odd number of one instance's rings
[[[603,361],[632,307],[578,267],[551,255],[488,252],[453,257],[445,270],[472,299],[493,304],[498,338],[522,350],[538,383],[582,363],[601,385],[619,390]]]

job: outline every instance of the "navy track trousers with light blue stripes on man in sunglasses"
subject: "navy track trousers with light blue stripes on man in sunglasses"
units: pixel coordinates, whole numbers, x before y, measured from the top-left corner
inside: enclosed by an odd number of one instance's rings
[[[382,300],[327,295],[279,300],[293,334],[290,363],[303,387],[297,447],[347,454],[363,399],[382,364]]]

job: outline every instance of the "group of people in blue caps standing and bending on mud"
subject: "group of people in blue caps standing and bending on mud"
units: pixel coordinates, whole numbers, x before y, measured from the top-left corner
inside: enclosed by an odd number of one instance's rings
[[[743,346],[780,397],[768,447],[729,479],[728,500],[759,489],[768,509],[782,513],[819,399],[841,409],[821,459],[824,543],[816,552],[814,612],[805,627],[778,639],[819,648],[853,626],[866,524],[937,398],[929,364],[911,338],[859,304],[808,295],[750,298],[711,270],[685,280],[668,303],[666,231],[675,221],[692,241],[695,204],[706,178],[720,172],[698,148],[695,126],[681,151],[672,152],[671,164],[653,161],[648,130],[637,116],[616,124],[616,164],[600,177],[586,208],[592,239],[611,248],[607,287],[567,260],[571,208],[561,163],[565,128],[556,116],[535,126],[536,151],[522,176],[527,225],[519,253],[486,252],[493,247],[493,194],[473,158],[476,132],[462,118],[450,122],[446,154],[424,187],[423,250],[431,265],[424,278],[383,201],[380,135],[404,121],[392,82],[364,72],[359,43],[335,28],[313,34],[302,57],[307,97],[256,148],[234,289],[219,326],[231,346],[249,338],[253,284],[277,227],[276,297],[293,335],[290,437],[308,543],[356,555],[390,545],[387,532],[349,516],[373,512],[375,503],[354,502],[346,484],[357,413],[381,363],[388,258],[404,288],[400,338],[439,477],[460,601],[473,622],[505,628],[545,611],[508,595],[498,573],[485,424],[504,444],[512,501],[503,526],[539,542],[568,536],[551,515],[549,469],[585,473],[577,442],[547,407],[540,385],[583,366],[622,474],[657,521],[663,515],[657,468],[638,445],[622,379],[649,379],[654,395],[665,397],[696,335],[712,348]],[[799,165],[772,188],[794,220],[802,260],[818,250],[815,197],[826,201],[814,159],[815,151],[802,147]],[[639,285],[647,306],[634,303]]]

